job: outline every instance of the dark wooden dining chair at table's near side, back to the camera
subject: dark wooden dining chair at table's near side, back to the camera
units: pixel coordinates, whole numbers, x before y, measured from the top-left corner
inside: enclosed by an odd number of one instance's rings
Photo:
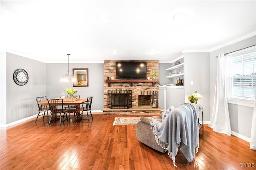
[[[50,121],[48,123],[48,127],[50,126],[50,123],[52,122],[52,120],[60,120],[60,126],[62,121],[67,120],[68,121],[68,116],[67,116],[67,110],[63,109],[63,99],[47,99],[48,100],[48,104],[50,106],[50,110],[51,110],[51,117],[50,117]],[[61,120],[62,117],[62,113],[63,114],[63,120]],[[53,117],[54,115],[54,117]],[[59,115],[59,116],[58,116]],[[64,119],[64,116],[66,115],[66,119]]]

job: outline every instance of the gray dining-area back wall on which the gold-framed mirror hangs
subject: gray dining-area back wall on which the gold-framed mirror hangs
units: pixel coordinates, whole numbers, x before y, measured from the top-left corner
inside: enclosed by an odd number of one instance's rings
[[[88,68],[88,87],[73,87],[72,82],[60,82],[63,74],[68,74],[68,64],[46,64],[46,87],[47,97],[59,97],[66,88],[75,88],[80,98],[93,96],[92,110],[102,110],[104,108],[104,64],[69,64],[70,75],[73,68]],[[66,95],[68,95],[65,92]]]

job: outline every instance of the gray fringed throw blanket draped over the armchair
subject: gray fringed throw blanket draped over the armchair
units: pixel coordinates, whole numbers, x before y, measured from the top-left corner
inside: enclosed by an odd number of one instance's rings
[[[173,109],[163,122],[152,119],[153,133],[158,145],[168,149],[168,156],[175,165],[178,147],[186,160],[192,162],[199,149],[197,110],[193,104],[185,103]]]

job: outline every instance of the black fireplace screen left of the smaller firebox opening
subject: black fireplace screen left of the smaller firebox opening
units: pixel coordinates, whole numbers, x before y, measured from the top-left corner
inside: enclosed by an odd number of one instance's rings
[[[132,90],[108,90],[108,108],[128,109],[132,107]]]

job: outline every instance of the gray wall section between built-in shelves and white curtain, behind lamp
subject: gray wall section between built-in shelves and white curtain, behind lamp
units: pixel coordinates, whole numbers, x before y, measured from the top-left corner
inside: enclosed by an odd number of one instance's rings
[[[204,107],[204,121],[210,121],[209,64],[210,53],[184,53],[185,102],[189,102],[188,96],[195,91],[200,93],[204,99],[199,99],[198,104]],[[193,85],[190,84],[191,81]]]

